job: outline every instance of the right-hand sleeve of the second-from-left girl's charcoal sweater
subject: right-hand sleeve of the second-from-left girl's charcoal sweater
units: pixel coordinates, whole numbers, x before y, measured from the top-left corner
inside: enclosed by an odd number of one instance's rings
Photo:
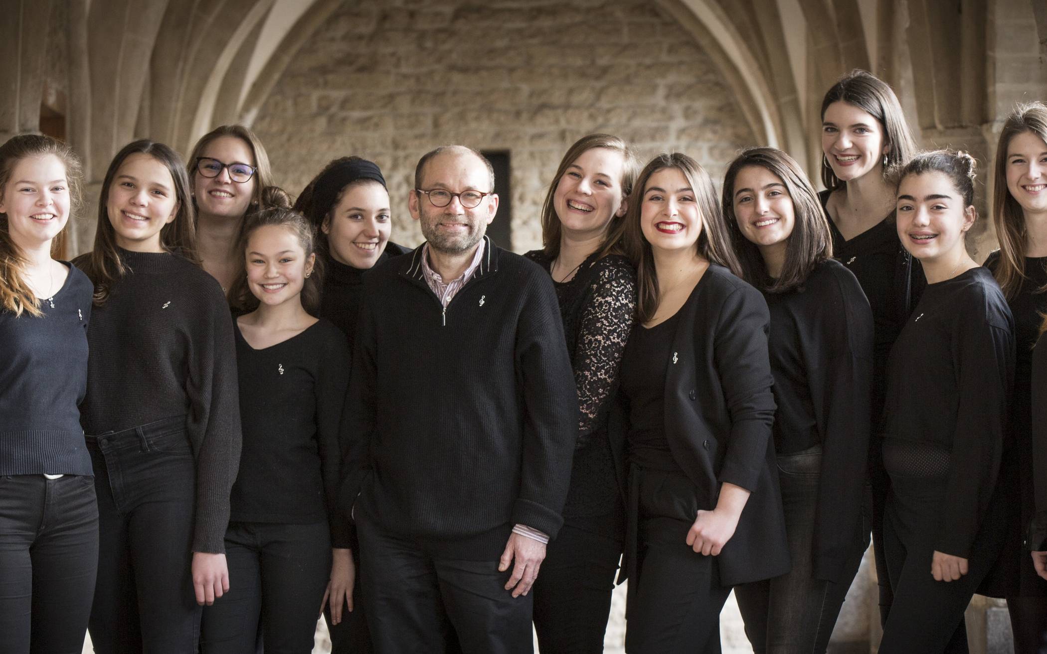
[[[206,316],[188,339],[185,388],[196,448],[193,551],[220,554],[225,551],[229,492],[240,468],[240,394],[232,316],[217,281],[205,293]]]

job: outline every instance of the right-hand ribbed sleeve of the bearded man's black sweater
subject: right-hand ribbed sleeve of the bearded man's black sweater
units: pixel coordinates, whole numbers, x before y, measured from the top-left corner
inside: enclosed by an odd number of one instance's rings
[[[553,284],[534,275],[516,335],[522,398],[519,495],[511,521],[555,538],[563,524],[571,464],[578,434],[577,389]]]

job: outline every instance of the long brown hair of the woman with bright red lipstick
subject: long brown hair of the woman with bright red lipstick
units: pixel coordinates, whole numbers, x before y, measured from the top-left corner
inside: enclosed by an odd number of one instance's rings
[[[654,269],[654,255],[650,243],[644,238],[640,226],[641,209],[643,207],[644,187],[652,175],[665,168],[676,168],[687,179],[694,199],[701,213],[701,233],[695,244],[698,254],[712,264],[726,266],[736,275],[741,274],[741,265],[734,250],[731,249],[731,236],[723,221],[719,200],[713,180],[701,164],[685,154],[664,153],[651,159],[637,177],[632,193],[629,194],[629,205],[625,211],[625,228],[622,234],[622,250],[637,267],[637,287],[639,302],[637,317],[641,322],[647,322],[658,311],[658,271]]]

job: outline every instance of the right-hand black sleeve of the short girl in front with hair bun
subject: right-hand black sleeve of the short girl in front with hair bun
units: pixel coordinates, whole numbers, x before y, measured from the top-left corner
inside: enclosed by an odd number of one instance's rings
[[[346,338],[336,329],[325,330],[315,386],[316,441],[327,495],[328,520],[331,523],[332,547],[350,546],[348,520],[344,512],[338,510],[338,484],[341,480],[339,428],[346,390],[349,387],[349,345]]]

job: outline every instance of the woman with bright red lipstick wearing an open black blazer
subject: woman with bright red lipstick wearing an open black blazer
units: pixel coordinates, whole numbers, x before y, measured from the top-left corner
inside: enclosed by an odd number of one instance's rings
[[[767,305],[732,274],[740,266],[712,180],[686,155],[644,167],[623,244],[639,323],[608,430],[629,461],[625,647],[719,652],[731,587],[789,569]]]

